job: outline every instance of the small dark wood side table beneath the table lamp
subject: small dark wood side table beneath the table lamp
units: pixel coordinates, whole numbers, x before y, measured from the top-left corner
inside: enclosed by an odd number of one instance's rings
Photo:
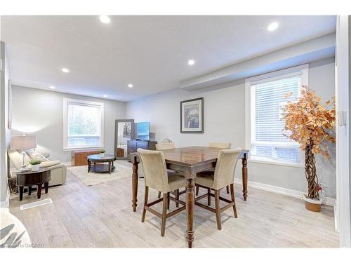
[[[16,173],[16,184],[20,191],[20,201],[23,198],[23,187],[28,187],[28,195],[32,194],[32,185],[37,185],[37,198],[41,197],[41,186],[44,184],[45,194],[48,194],[48,181],[51,180],[50,168],[40,168],[37,171],[24,170]]]

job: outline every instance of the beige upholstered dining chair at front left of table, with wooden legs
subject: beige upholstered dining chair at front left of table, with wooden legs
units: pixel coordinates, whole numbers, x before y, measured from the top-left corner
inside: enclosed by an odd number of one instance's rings
[[[186,187],[186,180],[177,173],[167,170],[166,161],[164,160],[164,153],[162,151],[150,151],[145,149],[138,149],[137,151],[140,156],[140,162],[142,163],[145,177],[145,200],[141,222],[145,222],[146,211],[157,215],[157,217],[160,217],[162,220],[161,236],[164,236],[166,219],[185,210],[185,203],[177,198],[173,198],[169,194],[171,191],[176,191],[181,187]],[[157,199],[156,201],[147,203],[149,187],[157,191],[161,191],[161,193],[163,193],[163,197]],[[170,213],[167,213],[170,200],[180,203],[183,206],[173,210]],[[151,208],[152,205],[161,201],[163,202],[162,214]]]

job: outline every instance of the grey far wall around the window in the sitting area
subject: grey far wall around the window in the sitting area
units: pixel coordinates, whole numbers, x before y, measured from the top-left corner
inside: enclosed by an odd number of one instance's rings
[[[104,140],[107,154],[114,151],[114,120],[124,119],[125,102],[102,100],[54,91],[13,86],[13,135],[34,133],[38,145],[62,162],[71,161],[71,152],[63,151],[63,97],[103,102]]]

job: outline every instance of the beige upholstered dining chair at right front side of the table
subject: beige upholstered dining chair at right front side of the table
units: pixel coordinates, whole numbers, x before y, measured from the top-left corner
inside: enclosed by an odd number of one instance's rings
[[[240,152],[240,148],[220,150],[218,153],[218,161],[215,170],[206,170],[204,172],[198,173],[197,177],[195,178],[195,185],[207,189],[207,194],[195,198],[195,205],[216,213],[217,228],[219,230],[222,229],[220,213],[227,210],[228,208],[233,208],[234,217],[237,218],[233,182],[235,167],[237,166],[237,159]],[[232,200],[228,200],[220,196],[220,189],[223,189],[227,186],[230,186],[230,195]],[[211,189],[215,191],[215,194],[211,193]],[[207,197],[208,205],[204,205],[198,202],[201,198],[205,197]],[[209,206],[211,205],[211,197],[215,198],[215,209]],[[223,206],[223,208],[220,208],[220,200],[225,201],[228,204]]]

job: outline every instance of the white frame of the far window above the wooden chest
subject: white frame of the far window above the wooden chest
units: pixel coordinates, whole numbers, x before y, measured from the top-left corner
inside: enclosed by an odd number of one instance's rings
[[[68,105],[76,104],[83,106],[94,106],[100,108],[100,142],[98,146],[68,147]],[[77,137],[77,136],[74,136]],[[76,100],[68,97],[63,98],[63,151],[81,150],[81,149],[101,149],[104,147],[104,103],[89,100]]]

